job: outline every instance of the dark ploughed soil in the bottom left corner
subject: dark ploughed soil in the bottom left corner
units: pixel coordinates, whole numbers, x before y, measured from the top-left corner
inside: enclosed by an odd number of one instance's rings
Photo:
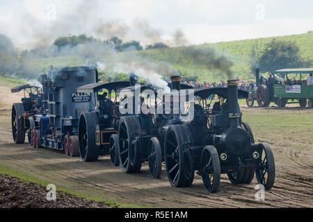
[[[33,182],[19,180],[0,173],[0,207],[31,208],[108,208],[109,205],[94,200],[84,200],[62,191],[56,200],[47,200],[47,189]]]

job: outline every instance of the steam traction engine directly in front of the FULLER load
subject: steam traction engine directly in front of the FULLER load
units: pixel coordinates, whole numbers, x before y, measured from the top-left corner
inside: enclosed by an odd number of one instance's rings
[[[118,149],[110,146],[116,141],[120,120],[118,89],[137,83],[138,77],[130,75],[129,81],[93,83],[77,88],[77,92],[93,94],[93,109],[79,116],[79,149],[85,162],[96,161],[99,155],[111,154],[112,164],[118,166]],[[115,99],[112,101],[112,93]]]

